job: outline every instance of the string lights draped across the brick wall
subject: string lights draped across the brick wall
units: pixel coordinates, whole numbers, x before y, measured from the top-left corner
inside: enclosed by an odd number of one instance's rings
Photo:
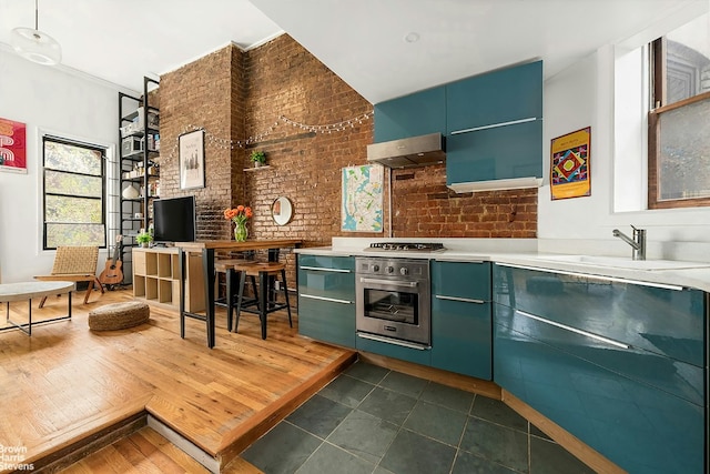
[[[280,121],[285,123],[285,124],[290,124],[292,127],[298,128],[301,130],[306,130],[308,132],[333,133],[333,132],[345,131],[345,130],[347,130],[347,128],[351,128],[351,129],[355,128],[355,125],[362,124],[363,122],[369,120],[369,118],[372,118],[373,114],[374,114],[373,112],[366,112],[366,113],[363,113],[362,115],[357,115],[357,117],[355,117],[353,119],[344,120],[342,122],[336,122],[336,123],[327,123],[327,124],[324,124],[324,125],[312,125],[312,124],[307,124],[307,123],[301,123],[301,122],[296,122],[295,120],[291,120],[285,115],[278,115],[278,120],[276,120],[274,122],[274,124],[268,127],[265,131],[263,131],[261,133],[257,133],[255,135],[251,135],[246,140],[237,140],[237,141],[214,135],[214,134],[210,133],[203,127],[197,127],[197,125],[193,125],[193,124],[187,124],[187,125],[183,127],[182,131],[178,135],[182,135],[183,133],[194,132],[195,130],[203,130],[204,131],[204,138],[205,138],[205,145],[207,145],[210,148],[213,148],[213,149],[220,149],[220,150],[234,150],[236,148],[245,148],[248,144],[258,143],[258,142],[263,141],[274,130],[276,130],[276,128],[280,124]],[[161,153],[161,159],[165,158],[166,160],[170,161],[173,158],[175,158],[178,155],[178,142],[179,142],[179,140],[175,140],[175,142],[173,143],[173,145],[172,145],[171,150],[168,152],[168,154]]]

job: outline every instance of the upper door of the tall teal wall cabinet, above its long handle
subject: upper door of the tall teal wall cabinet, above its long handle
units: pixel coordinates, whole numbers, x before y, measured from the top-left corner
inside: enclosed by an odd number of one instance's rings
[[[542,118],[542,61],[446,85],[447,134]]]

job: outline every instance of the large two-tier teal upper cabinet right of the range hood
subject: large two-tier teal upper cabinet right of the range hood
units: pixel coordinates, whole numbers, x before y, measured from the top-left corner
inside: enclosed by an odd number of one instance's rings
[[[446,123],[446,184],[454,191],[476,190],[488,181],[498,182],[494,189],[538,185],[542,62],[447,84]]]

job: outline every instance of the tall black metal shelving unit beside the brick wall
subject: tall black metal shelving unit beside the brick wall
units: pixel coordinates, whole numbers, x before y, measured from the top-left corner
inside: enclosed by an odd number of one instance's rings
[[[131,249],[135,236],[152,224],[152,200],[158,198],[160,172],[160,110],[150,104],[150,94],[160,81],[143,78],[143,95],[119,92],[119,233],[123,235],[121,260],[123,283],[132,283]],[[124,196],[129,186],[139,195]],[[136,216],[138,215],[138,216]]]

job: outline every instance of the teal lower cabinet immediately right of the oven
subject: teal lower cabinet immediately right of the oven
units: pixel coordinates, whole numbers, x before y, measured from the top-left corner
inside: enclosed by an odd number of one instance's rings
[[[432,263],[432,366],[491,380],[489,262]]]

